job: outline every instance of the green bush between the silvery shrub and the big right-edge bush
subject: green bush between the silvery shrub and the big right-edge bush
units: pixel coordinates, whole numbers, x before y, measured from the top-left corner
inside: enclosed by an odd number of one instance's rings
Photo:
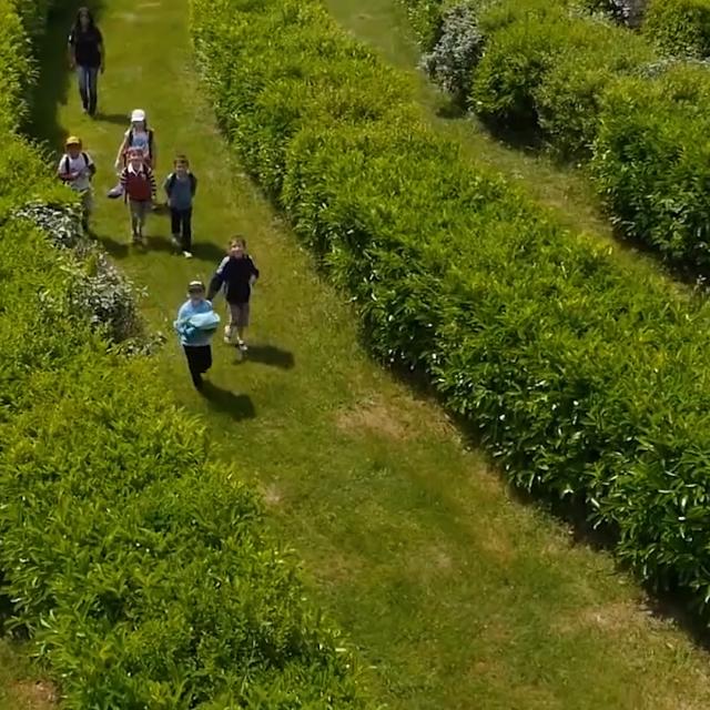
[[[561,6],[504,2],[480,21],[495,29],[474,73],[471,108],[488,122],[541,129],[564,154],[589,151],[607,87],[652,60],[641,39]]]

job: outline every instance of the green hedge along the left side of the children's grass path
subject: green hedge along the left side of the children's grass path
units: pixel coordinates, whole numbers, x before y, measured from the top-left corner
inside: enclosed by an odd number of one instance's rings
[[[0,8],[7,61],[26,42],[12,6]],[[20,101],[14,74],[0,77]],[[99,286],[78,295],[93,283],[79,268],[87,245],[65,189],[11,130],[14,114],[0,118],[8,626],[30,636],[68,710],[372,707],[351,653],[304,601],[293,555],[264,531],[254,493],[211,463],[201,422],[171,404],[152,358],[126,357],[109,339],[121,331],[95,328],[93,316],[125,314],[93,302]],[[89,257],[109,297],[116,282],[99,252]]]

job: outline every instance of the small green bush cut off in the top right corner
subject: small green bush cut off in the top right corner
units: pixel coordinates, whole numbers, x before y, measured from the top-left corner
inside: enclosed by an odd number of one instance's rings
[[[643,32],[672,55],[710,55],[710,0],[649,0]]]

